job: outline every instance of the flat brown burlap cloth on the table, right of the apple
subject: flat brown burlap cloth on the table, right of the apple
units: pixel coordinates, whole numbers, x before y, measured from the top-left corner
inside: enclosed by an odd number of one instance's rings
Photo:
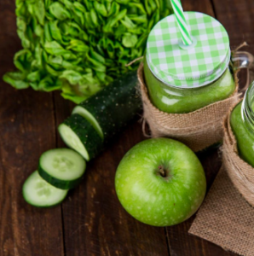
[[[235,189],[224,168],[188,232],[234,253],[254,256],[254,208]]]

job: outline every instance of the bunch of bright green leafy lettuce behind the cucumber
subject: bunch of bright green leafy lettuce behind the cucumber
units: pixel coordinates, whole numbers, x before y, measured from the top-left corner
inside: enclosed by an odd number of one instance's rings
[[[143,55],[148,33],[170,13],[169,0],[16,0],[23,49],[3,80],[81,102],[136,68],[125,65]]]

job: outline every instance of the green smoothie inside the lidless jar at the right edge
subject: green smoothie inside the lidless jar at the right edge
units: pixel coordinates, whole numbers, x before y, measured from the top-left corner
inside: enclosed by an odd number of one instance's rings
[[[242,104],[240,102],[231,113],[230,125],[237,141],[240,158],[254,167],[254,136],[252,135],[254,130],[251,132],[243,121],[241,114]]]

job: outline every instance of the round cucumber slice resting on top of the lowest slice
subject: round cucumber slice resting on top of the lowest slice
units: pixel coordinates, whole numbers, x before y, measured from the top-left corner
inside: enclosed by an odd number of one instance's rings
[[[43,179],[58,189],[73,189],[85,171],[83,157],[69,148],[55,148],[44,152],[38,172]]]

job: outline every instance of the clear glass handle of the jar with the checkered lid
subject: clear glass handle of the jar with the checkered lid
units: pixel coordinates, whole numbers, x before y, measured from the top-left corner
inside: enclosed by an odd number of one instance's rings
[[[242,68],[247,69],[246,84],[245,87],[240,90],[241,92],[245,92],[254,78],[252,72],[254,70],[254,56],[247,51],[234,51],[231,56],[231,64],[234,71]]]

